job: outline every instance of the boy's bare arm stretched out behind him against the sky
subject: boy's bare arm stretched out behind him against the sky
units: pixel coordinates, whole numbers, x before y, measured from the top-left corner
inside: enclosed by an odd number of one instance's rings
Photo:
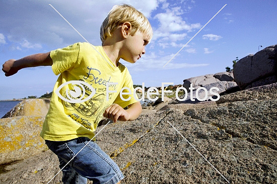
[[[50,52],[47,52],[41,54],[33,54],[18,60],[10,59],[3,64],[2,70],[5,72],[6,76],[11,76],[17,73],[18,70],[22,68],[35,66],[51,66],[52,64],[53,61],[50,57]]]

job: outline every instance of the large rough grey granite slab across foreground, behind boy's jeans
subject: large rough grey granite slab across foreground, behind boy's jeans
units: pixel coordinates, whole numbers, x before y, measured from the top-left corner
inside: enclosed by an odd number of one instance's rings
[[[241,91],[237,100],[242,101],[228,102],[230,94],[217,105],[171,109],[182,106],[177,104],[144,112],[135,121],[108,124],[97,143],[119,165],[122,184],[227,183],[170,122],[230,183],[277,183],[277,100],[265,98],[270,88],[276,90],[276,85]],[[260,98],[251,98],[259,91]],[[48,150],[3,170],[2,183],[46,183],[58,171],[58,161]],[[51,183],[60,179],[61,174]]]

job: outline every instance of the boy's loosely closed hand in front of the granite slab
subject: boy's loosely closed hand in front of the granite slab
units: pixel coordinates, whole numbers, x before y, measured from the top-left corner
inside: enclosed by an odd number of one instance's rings
[[[130,119],[130,115],[127,111],[125,111],[122,107],[120,107],[118,104],[112,104],[110,107],[108,107],[103,116],[105,118],[111,119],[114,123],[119,121],[128,121]]]

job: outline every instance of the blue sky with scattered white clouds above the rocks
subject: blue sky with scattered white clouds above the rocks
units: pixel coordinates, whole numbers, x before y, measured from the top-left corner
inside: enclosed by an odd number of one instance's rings
[[[232,61],[277,44],[275,0],[105,0],[1,1],[0,63],[45,53],[85,40],[101,45],[100,26],[114,5],[129,4],[150,21],[154,36],[146,54],[125,65],[134,84],[157,87],[232,68]],[[225,4],[227,6],[163,67]],[[259,46],[262,47],[259,47]],[[56,76],[50,66],[24,68],[6,77],[0,71],[0,100],[40,97],[51,92]]]

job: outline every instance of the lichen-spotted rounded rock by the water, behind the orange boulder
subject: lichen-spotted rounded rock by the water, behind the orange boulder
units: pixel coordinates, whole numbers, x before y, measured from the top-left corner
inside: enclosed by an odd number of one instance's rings
[[[49,110],[50,100],[28,99],[17,104],[2,118],[15,116],[46,116]]]

